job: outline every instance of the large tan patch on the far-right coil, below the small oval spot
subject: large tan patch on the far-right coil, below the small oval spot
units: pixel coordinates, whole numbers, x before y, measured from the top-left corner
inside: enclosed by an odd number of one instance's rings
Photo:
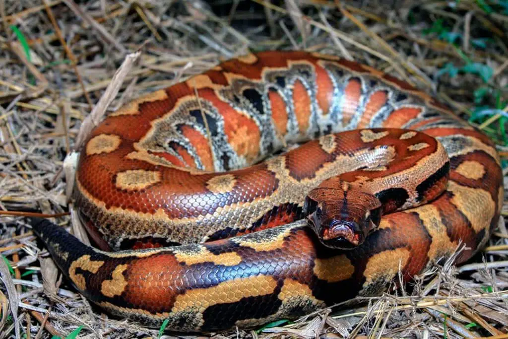
[[[496,204],[489,192],[460,186],[453,180],[448,181],[447,190],[454,194],[452,203],[466,216],[474,232],[489,229],[496,212]]]

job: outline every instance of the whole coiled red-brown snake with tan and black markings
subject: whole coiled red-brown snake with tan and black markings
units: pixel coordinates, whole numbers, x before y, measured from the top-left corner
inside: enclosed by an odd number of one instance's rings
[[[47,221],[34,230],[113,314],[184,332],[246,328],[379,294],[399,267],[410,281],[459,243],[464,262],[497,224],[501,183],[493,143],[422,91],[333,56],[261,52],[92,131],[79,216],[103,250],[136,250],[99,251]],[[359,232],[320,230],[333,213]],[[331,235],[350,247],[330,248]]]

